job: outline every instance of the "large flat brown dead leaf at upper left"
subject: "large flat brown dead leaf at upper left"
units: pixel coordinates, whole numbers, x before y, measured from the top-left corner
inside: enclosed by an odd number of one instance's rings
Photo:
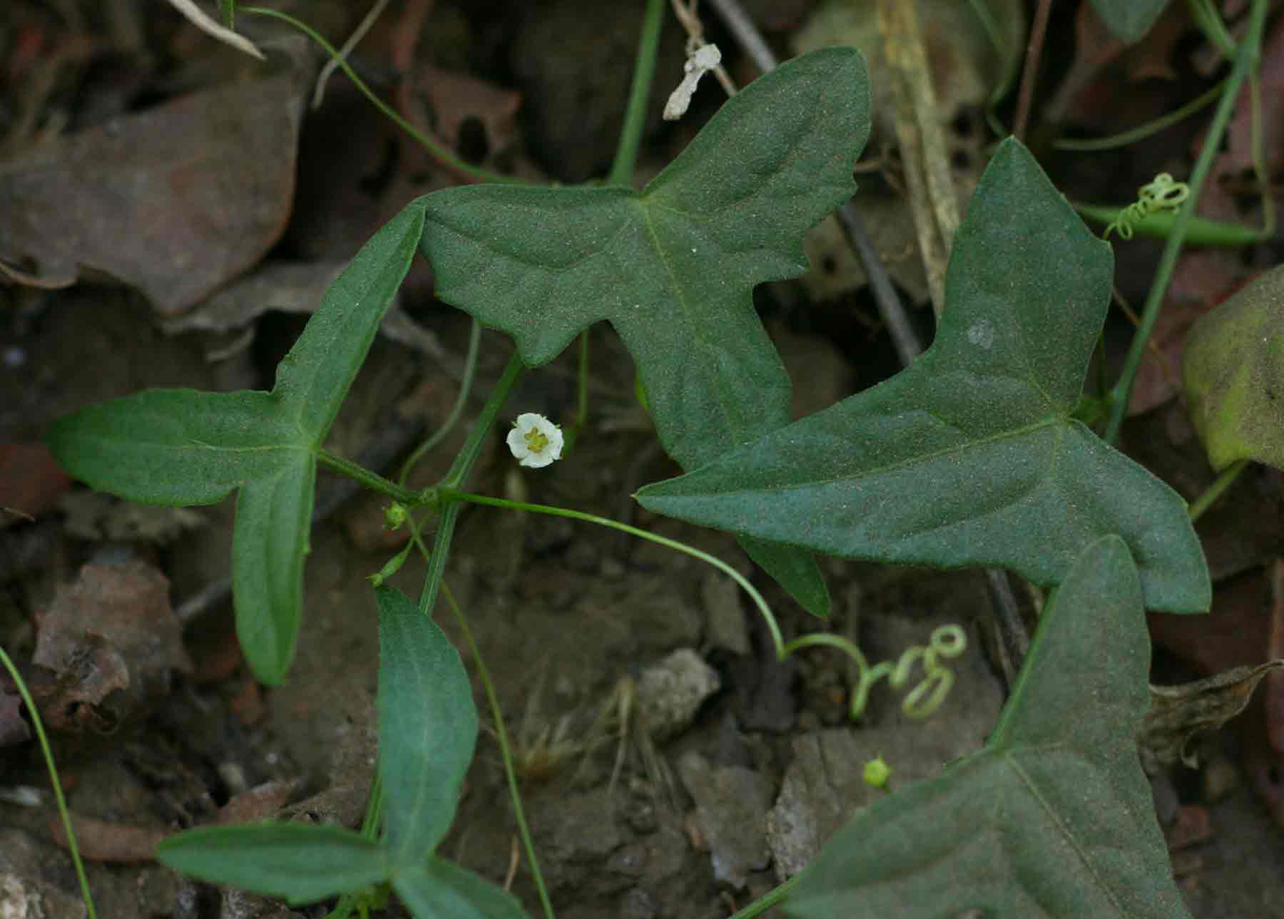
[[[113,279],[173,314],[249,268],[290,214],[307,60],[306,40],[290,36],[256,80],[10,160],[0,273],[45,288]]]

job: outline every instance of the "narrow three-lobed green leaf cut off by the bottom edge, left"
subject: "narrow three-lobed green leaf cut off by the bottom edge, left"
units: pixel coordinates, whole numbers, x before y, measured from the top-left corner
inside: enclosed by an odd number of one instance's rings
[[[455,646],[413,601],[389,587],[375,597],[383,839],[309,824],[204,827],[169,837],[157,857],[185,874],[291,904],[390,882],[420,919],[525,916],[511,895],[433,857],[473,760],[473,688]]]

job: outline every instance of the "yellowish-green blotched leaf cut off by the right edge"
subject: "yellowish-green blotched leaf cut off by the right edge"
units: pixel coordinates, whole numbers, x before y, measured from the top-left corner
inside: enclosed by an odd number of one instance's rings
[[[1284,266],[1199,317],[1181,376],[1215,470],[1236,460],[1284,468]]]

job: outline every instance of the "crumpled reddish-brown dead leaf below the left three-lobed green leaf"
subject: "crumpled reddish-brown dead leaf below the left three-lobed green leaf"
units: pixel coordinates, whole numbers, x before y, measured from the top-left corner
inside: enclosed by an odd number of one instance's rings
[[[191,670],[169,581],[137,561],[83,566],[40,617],[32,660],[54,674],[33,694],[58,730],[114,730]]]

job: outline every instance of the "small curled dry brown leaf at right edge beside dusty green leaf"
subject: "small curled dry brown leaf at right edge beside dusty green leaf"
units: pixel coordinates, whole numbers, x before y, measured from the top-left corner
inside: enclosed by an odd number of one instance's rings
[[[1147,712],[1139,742],[1141,761],[1148,771],[1170,766],[1179,760],[1192,769],[1198,760],[1188,751],[1195,734],[1221,728],[1242,712],[1253,697],[1258,682],[1284,660],[1267,661],[1256,667],[1233,667],[1194,683],[1175,687],[1150,687],[1150,711]]]

